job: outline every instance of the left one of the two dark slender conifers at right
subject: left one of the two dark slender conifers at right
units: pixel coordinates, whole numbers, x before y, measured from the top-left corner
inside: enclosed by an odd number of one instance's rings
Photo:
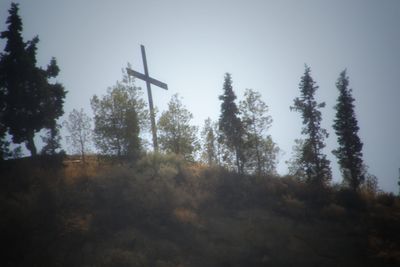
[[[311,77],[311,70],[305,66],[304,75],[299,84],[300,97],[294,99],[294,106],[291,110],[301,113],[303,129],[301,133],[306,135],[301,148],[299,167],[302,168],[306,180],[315,185],[324,185],[331,180],[331,169],[329,160],[323,154],[325,147],[324,139],[328,133],[321,127],[321,112],[319,109],[325,107],[325,103],[317,103],[314,98],[318,86]]]

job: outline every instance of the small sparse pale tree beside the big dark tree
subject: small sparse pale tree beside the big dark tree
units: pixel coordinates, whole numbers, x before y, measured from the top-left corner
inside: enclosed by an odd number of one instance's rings
[[[64,121],[64,125],[69,132],[67,142],[70,144],[72,151],[81,155],[82,161],[85,162],[85,155],[89,152],[92,140],[92,119],[84,112],[73,109],[68,115],[68,121]]]

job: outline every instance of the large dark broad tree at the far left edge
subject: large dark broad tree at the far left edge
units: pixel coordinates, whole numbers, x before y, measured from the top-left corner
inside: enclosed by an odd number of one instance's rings
[[[36,67],[39,38],[24,42],[18,4],[12,3],[7,19],[6,39],[0,54],[0,88],[4,107],[2,119],[14,143],[25,142],[32,156],[37,154],[34,136],[43,128],[52,129],[63,115],[66,91],[60,83],[50,83],[59,68],[52,58],[47,69]]]

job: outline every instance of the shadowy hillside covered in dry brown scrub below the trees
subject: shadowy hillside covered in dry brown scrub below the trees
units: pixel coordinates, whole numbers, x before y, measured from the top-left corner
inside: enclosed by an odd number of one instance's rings
[[[400,264],[391,194],[317,190],[175,156],[74,160],[1,163],[1,266]]]

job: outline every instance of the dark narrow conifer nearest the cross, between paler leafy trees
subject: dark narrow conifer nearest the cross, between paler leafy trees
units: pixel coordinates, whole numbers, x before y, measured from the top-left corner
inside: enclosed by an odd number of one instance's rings
[[[232,88],[232,78],[229,73],[225,74],[223,94],[219,97],[221,103],[221,114],[219,117],[219,129],[221,141],[235,153],[236,167],[239,173],[244,172],[243,134],[244,129],[239,117],[239,109],[236,106],[236,95]]]

